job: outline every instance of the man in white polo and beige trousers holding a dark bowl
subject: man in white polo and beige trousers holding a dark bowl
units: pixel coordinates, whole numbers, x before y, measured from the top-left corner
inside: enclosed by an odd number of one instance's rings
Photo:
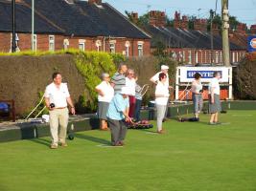
[[[68,92],[67,85],[61,83],[62,77],[59,73],[53,74],[53,82],[46,87],[44,99],[50,114],[50,132],[52,137],[51,149],[58,148],[58,142],[63,147],[67,146],[66,132],[68,125],[68,109],[75,115],[75,107]],[[59,132],[58,132],[59,124]]]

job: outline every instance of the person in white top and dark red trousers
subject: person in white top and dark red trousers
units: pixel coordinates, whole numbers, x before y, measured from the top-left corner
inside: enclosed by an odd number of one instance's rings
[[[132,69],[128,69],[128,74],[126,77],[126,87],[128,88],[128,100],[129,100],[129,110],[128,110],[128,117],[134,116],[135,111],[135,87],[136,87],[136,80],[134,78],[134,71]]]

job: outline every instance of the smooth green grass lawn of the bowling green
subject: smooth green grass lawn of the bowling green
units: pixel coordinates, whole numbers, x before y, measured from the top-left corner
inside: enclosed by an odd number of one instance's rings
[[[1,143],[0,191],[255,191],[256,111],[207,122],[170,120],[165,135],[129,130],[118,148],[101,146],[110,135],[98,130],[57,150],[50,138]]]

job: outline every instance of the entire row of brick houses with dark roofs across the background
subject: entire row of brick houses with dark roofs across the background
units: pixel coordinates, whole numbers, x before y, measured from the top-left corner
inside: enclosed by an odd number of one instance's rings
[[[12,45],[12,1],[0,0],[0,52]],[[16,0],[17,50],[32,47],[31,0]],[[138,19],[132,13],[133,20]],[[75,48],[83,51],[150,55],[158,42],[174,59],[188,64],[222,63],[222,39],[214,26],[213,51],[207,22],[196,19],[195,30],[188,30],[188,18],[175,12],[174,27],[166,26],[162,11],[150,11],[149,25],[143,30],[102,0],[35,0],[35,50],[55,51]],[[239,62],[246,52],[244,27],[230,32],[231,62]]]

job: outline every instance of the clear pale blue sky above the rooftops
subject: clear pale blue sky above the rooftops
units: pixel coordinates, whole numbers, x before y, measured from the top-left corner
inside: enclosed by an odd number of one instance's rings
[[[221,13],[221,0],[218,1],[217,12]],[[118,11],[136,11],[139,15],[147,11],[165,11],[174,18],[175,11],[181,14],[195,15],[200,18],[209,17],[209,10],[215,11],[216,0],[103,0]],[[248,26],[256,24],[256,0],[229,0],[230,15],[236,16],[240,22]]]

